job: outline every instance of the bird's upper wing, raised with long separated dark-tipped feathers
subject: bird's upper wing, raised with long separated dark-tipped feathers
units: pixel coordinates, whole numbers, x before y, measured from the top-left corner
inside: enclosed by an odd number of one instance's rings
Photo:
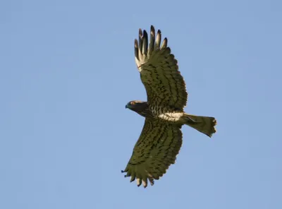
[[[151,26],[150,40],[146,30],[139,30],[139,42],[135,40],[135,62],[142,83],[147,91],[147,100],[154,106],[176,107],[183,110],[188,99],[185,81],[178,71],[177,60],[167,47],[167,38],[161,44],[161,31],[155,36]],[[148,47],[149,43],[149,47]]]

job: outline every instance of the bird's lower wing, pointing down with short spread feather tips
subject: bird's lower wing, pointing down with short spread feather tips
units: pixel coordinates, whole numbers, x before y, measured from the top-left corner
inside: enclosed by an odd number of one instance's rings
[[[176,160],[182,145],[180,126],[164,123],[156,119],[145,119],[140,138],[133,149],[133,154],[122,172],[125,177],[136,179],[137,186],[151,185],[154,179],[159,179],[166,173],[166,169]]]

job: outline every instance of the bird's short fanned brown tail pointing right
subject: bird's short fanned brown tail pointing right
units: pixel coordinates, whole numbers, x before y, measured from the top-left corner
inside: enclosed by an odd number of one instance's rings
[[[216,133],[216,119],[214,117],[203,117],[195,116],[192,114],[183,114],[184,124],[206,134],[209,137],[212,137],[213,133]]]

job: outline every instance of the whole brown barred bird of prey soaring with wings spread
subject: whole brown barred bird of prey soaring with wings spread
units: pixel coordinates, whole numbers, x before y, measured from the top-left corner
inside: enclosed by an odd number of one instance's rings
[[[139,42],[134,42],[135,62],[147,92],[147,102],[133,100],[125,108],[145,117],[145,124],[122,172],[130,177],[130,182],[136,179],[137,186],[143,184],[145,188],[148,180],[153,186],[154,180],[175,163],[182,145],[183,125],[209,137],[216,132],[214,117],[184,112],[188,93],[177,60],[167,44],[167,38],[161,43],[161,31],[158,30],[156,36],[154,26],[151,26],[149,40],[146,30],[140,29]]]

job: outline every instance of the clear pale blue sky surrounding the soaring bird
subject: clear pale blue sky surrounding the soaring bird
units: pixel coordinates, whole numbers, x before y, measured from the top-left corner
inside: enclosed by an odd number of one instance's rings
[[[282,1],[1,1],[0,208],[282,208]],[[188,88],[175,165],[125,179],[146,100],[138,29],[161,29]]]

